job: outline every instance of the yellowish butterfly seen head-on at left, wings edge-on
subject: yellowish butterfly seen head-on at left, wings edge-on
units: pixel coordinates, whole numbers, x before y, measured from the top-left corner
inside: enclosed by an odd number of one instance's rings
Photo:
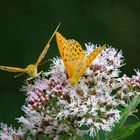
[[[42,59],[45,57],[45,54],[47,53],[47,51],[49,49],[50,42],[51,42],[52,38],[54,37],[54,35],[56,34],[59,26],[60,26],[60,23],[58,24],[57,28],[55,29],[54,33],[52,34],[51,38],[49,39],[48,43],[46,44],[45,48],[41,52],[41,54],[38,57],[38,59],[37,59],[37,61],[36,61],[35,64],[29,64],[29,65],[27,65],[26,68],[0,66],[0,69],[1,70],[4,70],[4,71],[9,71],[9,72],[20,72],[20,74],[17,75],[17,76],[15,76],[15,77],[18,77],[18,76],[26,73],[26,74],[29,75],[29,77],[27,78],[27,80],[31,80],[34,77],[37,77],[38,75],[40,75],[42,73],[42,71],[39,72],[39,73],[37,72],[38,65],[40,64],[40,62],[42,61]]]

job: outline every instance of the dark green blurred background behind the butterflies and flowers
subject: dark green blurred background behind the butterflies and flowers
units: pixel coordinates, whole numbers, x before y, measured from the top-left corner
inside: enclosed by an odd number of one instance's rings
[[[123,73],[131,76],[134,68],[140,68],[139,0],[0,0],[0,65],[34,63],[59,22],[59,31],[82,46],[106,43],[122,49]],[[46,59],[58,55],[53,39]],[[48,67],[49,63],[40,69]],[[22,115],[25,95],[20,89],[25,76],[14,75],[0,71],[0,121],[17,126],[14,118]],[[129,140],[138,139],[139,132]]]

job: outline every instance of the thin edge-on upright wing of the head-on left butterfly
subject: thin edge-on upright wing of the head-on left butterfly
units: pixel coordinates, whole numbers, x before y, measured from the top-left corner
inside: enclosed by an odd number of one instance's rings
[[[37,62],[36,62],[36,64],[35,64],[36,66],[38,66],[39,63],[42,61],[42,59],[45,57],[45,54],[47,53],[47,51],[48,51],[48,49],[49,49],[50,42],[51,42],[51,40],[53,39],[54,35],[56,34],[56,32],[57,32],[59,26],[60,26],[60,23],[58,24],[58,26],[56,27],[55,31],[53,32],[51,38],[50,38],[49,41],[47,42],[47,44],[46,44],[44,50],[41,52],[40,56],[38,57]]]

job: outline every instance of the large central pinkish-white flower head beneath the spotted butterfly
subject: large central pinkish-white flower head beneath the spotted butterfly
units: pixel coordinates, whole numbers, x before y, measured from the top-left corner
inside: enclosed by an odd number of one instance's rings
[[[86,47],[86,52],[89,53],[97,46],[86,44]],[[123,86],[123,80],[119,78],[120,67],[123,65],[121,51],[118,52],[111,47],[105,48],[91,63],[79,82],[72,86],[63,61],[60,58],[54,58],[50,70],[45,72],[42,78],[37,78],[33,85],[27,85],[25,88],[27,108],[42,108],[47,112],[55,125],[52,127],[52,124],[50,126],[47,123],[45,127],[47,132],[53,135],[55,135],[53,130],[56,128],[57,134],[62,131],[72,133],[71,128],[65,123],[66,120],[70,121],[70,125],[78,134],[81,132],[81,134],[93,135],[94,133],[95,135],[95,132],[100,129],[111,131],[112,126],[121,118],[118,106],[123,103],[112,95],[112,92]],[[31,111],[26,114],[29,113]],[[25,126],[29,125],[28,128],[38,126],[37,130],[43,132],[41,130],[42,122],[46,115],[37,111],[35,114],[38,115],[33,116],[39,119],[35,119],[35,122],[39,124],[34,124],[32,116],[29,117],[32,118],[30,123],[28,122],[29,124],[27,123]],[[24,119],[26,120],[26,118]],[[20,118],[19,121],[24,124],[23,118]],[[63,125],[60,125],[61,123],[67,126],[66,130]],[[82,126],[87,126],[88,130],[82,131],[80,129]]]

